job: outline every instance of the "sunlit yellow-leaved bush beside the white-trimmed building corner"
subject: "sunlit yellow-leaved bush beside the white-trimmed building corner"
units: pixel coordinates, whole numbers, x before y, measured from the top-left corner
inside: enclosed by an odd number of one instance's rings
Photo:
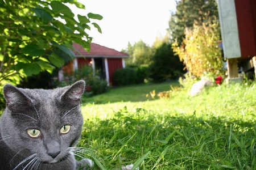
[[[192,75],[200,77],[204,72],[224,75],[224,61],[217,43],[219,28],[216,18],[202,25],[194,24],[193,29],[186,28],[181,46],[177,42],[173,44],[175,54]]]

